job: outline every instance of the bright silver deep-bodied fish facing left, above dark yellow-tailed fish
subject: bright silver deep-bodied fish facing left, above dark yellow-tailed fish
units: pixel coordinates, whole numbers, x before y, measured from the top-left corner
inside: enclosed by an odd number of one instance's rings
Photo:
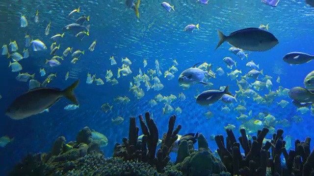
[[[211,69],[211,66],[209,66],[208,71],[204,71],[204,70],[196,67],[199,64],[201,64],[201,63],[197,63],[194,66],[184,70],[178,78],[179,83],[180,84],[188,84],[188,85],[201,83],[201,84],[207,85],[203,80],[204,80],[206,75],[211,76],[209,74],[209,70]]]

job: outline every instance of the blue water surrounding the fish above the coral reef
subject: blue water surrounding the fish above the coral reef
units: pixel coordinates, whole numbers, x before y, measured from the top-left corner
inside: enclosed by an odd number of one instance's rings
[[[93,0],[93,1],[71,1],[66,2],[41,2],[26,0],[4,2],[0,5],[0,42],[9,44],[10,40],[16,40],[19,44],[19,52],[22,53],[24,47],[25,33],[32,39],[42,40],[47,47],[52,41],[50,37],[56,33],[62,33],[62,27],[74,22],[75,19],[67,17],[73,9],[80,6],[80,15],[90,15],[90,36],[80,42],[75,37],[65,35],[59,40],[61,45],[59,54],[66,47],[74,47],[75,50],[85,50],[77,64],[71,64],[71,57],[68,56],[61,66],[49,67],[45,64],[46,59],[50,59],[50,50],[42,52],[29,51],[30,57],[22,60],[22,72],[36,73],[35,79],[43,82],[46,77],[40,77],[39,69],[45,67],[47,75],[57,73],[57,77],[48,85],[49,87],[66,88],[76,79],[69,78],[65,81],[64,76],[67,71],[73,77],[81,81],[75,93],[80,102],[78,110],[66,111],[63,108],[70,102],[61,99],[55,104],[49,113],[42,113],[23,120],[12,120],[4,115],[4,111],[17,96],[23,94],[28,89],[28,83],[18,82],[15,77],[17,73],[11,72],[8,68],[9,60],[5,56],[0,56],[1,84],[0,94],[0,136],[8,135],[15,137],[14,141],[5,148],[0,148],[0,173],[7,173],[16,162],[21,160],[28,153],[49,152],[53,141],[58,136],[65,136],[67,141],[75,140],[77,132],[85,126],[95,129],[105,134],[109,140],[104,148],[106,156],[111,156],[113,146],[116,142],[121,142],[122,137],[128,136],[129,117],[144,114],[150,111],[154,114],[154,119],[159,129],[159,137],[167,131],[169,114],[162,116],[162,103],[151,108],[148,101],[157,94],[178,96],[183,92],[186,100],[179,99],[171,103],[174,108],[180,107],[182,114],[177,115],[177,124],[182,125],[180,134],[187,132],[202,132],[208,139],[211,134],[224,134],[224,126],[234,124],[236,129],[241,124],[235,117],[239,113],[232,110],[230,114],[223,114],[222,102],[217,102],[213,106],[202,107],[196,104],[194,96],[197,90],[204,91],[204,85],[192,85],[189,89],[183,90],[179,87],[177,78],[186,68],[199,62],[213,64],[213,70],[221,66],[227,73],[230,69],[222,61],[224,57],[232,57],[237,62],[237,69],[242,70],[242,75],[250,68],[245,66],[248,61],[253,60],[260,64],[265,75],[273,77],[273,90],[278,86],[293,88],[303,86],[304,77],[313,70],[314,63],[306,63],[300,66],[289,66],[282,61],[282,57],[292,51],[314,53],[313,36],[313,12],[303,1],[280,1],[278,7],[270,7],[262,4],[259,0],[211,0],[208,5],[196,4],[195,0],[168,1],[175,6],[174,13],[168,13],[161,6],[160,0],[146,0],[140,4],[140,19],[137,19],[134,11],[126,9],[122,0]],[[39,23],[34,22],[36,10],[39,10]],[[20,12],[26,16],[28,26],[20,27]],[[77,15],[76,17],[79,17]],[[45,28],[52,22],[50,35],[45,36]],[[193,33],[183,32],[183,28],[189,23],[199,23],[200,30]],[[248,60],[240,60],[228,51],[229,44],[223,44],[214,50],[218,43],[216,29],[222,30],[225,34],[246,27],[258,27],[260,24],[269,23],[269,31],[279,40],[279,44],[273,49],[265,52],[251,52]],[[97,39],[97,44],[93,52],[88,51],[89,45]],[[30,50],[30,48],[29,48]],[[117,65],[110,66],[109,57],[114,56]],[[105,83],[104,86],[86,84],[87,73],[96,74],[97,78],[105,81],[106,70],[111,69],[114,78],[117,76],[117,69],[121,67],[121,58],[128,57],[132,61],[131,70],[133,73],[127,77],[118,79],[119,84],[111,86]],[[147,59],[148,66],[143,68],[143,59]],[[133,76],[138,74],[139,68],[142,71],[155,69],[155,60],[159,61],[162,72],[172,66],[172,59],[179,63],[179,71],[175,73],[173,80],[166,80],[163,75],[159,77],[164,88],[160,91],[146,91],[144,84],[141,88],[145,91],[145,96],[137,100],[129,92],[129,82]],[[281,83],[276,83],[278,70],[280,71]],[[261,80],[261,78],[260,78]],[[214,84],[212,88],[230,85],[231,92],[238,90],[236,81],[231,81],[227,75],[216,79],[210,79]],[[250,80],[250,83],[253,83]],[[268,90],[258,92],[261,96],[268,93]],[[117,96],[128,96],[131,101],[126,105],[119,105],[113,102]],[[289,104],[284,110],[275,102],[280,102],[282,98],[277,97],[270,106],[258,105],[252,99],[246,99],[247,112],[253,111],[253,116],[259,112],[268,111],[277,120],[287,119],[298,114],[296,108]],[[288,97],[283,98],[290,102]],[[112,112],[105,114],[101,110],[104,103],[113,105]],[[214,117],[207,119],[204,115],[210,110]],[[174,113],[174,112],[173,112]],[[300,114],[298,114],[300,115]],[[120,125],[114,125],[111,118],[122,116],[125,121]],[[285,134],[290,134],[294,139],[305,139],[313,136],[314,117],[310,114],[300,115],[303,121],[287,128],[283,128]],[[137,123],[139,125],[139,123]],[[282,128],[276,126],[276,129]],[[237,130],[235,130],[238,135]],[[292,142],[293,143],[293,142]],[[211,149],[216,149],[216,144],[209,141]],[[175,159],[175,155],[172,155]]]

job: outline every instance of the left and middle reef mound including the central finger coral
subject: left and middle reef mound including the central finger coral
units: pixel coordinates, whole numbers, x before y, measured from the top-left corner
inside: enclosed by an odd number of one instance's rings
[[[203,134],[198,135],[199,149],[192,140],[180,141],[176,164],[170,161],[172,144],[178,139],[181,125],[175,128],[176,116],[169,119],[168,132],[163,134],[157,150],[158,129],[148,112],[139,116],[144,134],[137,140],[139,127],[130,119],[129,139],[116,144],[113,157],[105,158],[100,141],[85,127],[76,141],[58,137],[49,153],[29,154],[19,162],[9,176],[230,176],[226,167],[209,150]],[[145,123],[146,122],[146,123]],[[157,153],[156,153],[157,150]]]

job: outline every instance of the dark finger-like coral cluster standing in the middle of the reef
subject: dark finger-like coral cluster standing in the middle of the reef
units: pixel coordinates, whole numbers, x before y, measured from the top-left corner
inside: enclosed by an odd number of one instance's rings
[[[161,147],[157,150],[158,129],[149,112],[145,113],[145,121],[142,115],[139,115],[140,126],[144,134],[142,141],[138,141],[139,127],[136,126],[135,117],[130,118],[129,139],[123,138],[122,144],[116,144],[114,147],[113,157],[123,157],[125,160],[135,160],[148,162],[155,166],[157,171],[164,172],[164,167],[170,160],[171,145],[178,139],[178,132],[181,130],[181,125],[176,129],[176,116],[173,115],[169,119],[168,132],[163,134]],[[146,146],[147,144],[147,146]],[[156,156],[155,156],[156,154]]]

